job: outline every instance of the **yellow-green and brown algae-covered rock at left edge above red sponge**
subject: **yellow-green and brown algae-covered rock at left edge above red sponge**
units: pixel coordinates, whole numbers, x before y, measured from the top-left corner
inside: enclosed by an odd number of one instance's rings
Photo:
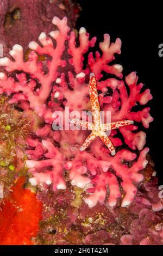
[[[5,192],[14,184],[16,176],[27,174],[24,150],[32,122],[8,101],[7,96],[0,96],[0,181]],[[17,152],[22,154],[19,159]]]

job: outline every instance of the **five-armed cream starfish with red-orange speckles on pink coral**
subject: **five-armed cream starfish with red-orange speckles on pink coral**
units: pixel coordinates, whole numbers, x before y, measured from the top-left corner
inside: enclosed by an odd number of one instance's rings
[[[85,150],[96,137],[100,137],[103,143],[105,143],[105,145],[110,150],[111,155],[114,156],[116,154],[114,145],[112,145],[105,131],[110,131],[112,129],[119,129],[121,127],[133,124],[134,121],[122,120],[122,121],[116,121],[114,123],[103,124],[101,120],[100,107],[98,102],[98,92],[97,92],[97,86],[96,86],[96,77],[94,73],[90,73],[89,89],[90,89],[90,100],[91,100],[93,123],[90,123],[84,120],[79,120],[76,118],[71,118],[69,120],[70,123],[72,124],[80,125],[92,131],[91,134],[86,138],[85,142],[80,148],[80,151]]]

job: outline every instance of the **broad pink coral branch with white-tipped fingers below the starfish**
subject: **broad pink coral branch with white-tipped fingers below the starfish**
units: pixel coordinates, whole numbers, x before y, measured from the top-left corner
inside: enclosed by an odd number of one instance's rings
[[[72,162],[67,162],[65,164],[65,168],[70,169],[70,179],[72,180],[72,185],[82,188],[84,188],[87,184],[89,184],[89,186],[90,184],[95,185],[95,188],[93,188],[93,195],[85,199],[85,202],[90,207],[95,206],[98,201],[104,202],[107,185],[109,187],[108,204],[109,206],[114,206],[117,198],[121,196],[117,182],[117,176],[120,177],[122,179],[122,188],[124,192],[126,192],[126,195],[122,200],[122,206],[124,207],[129,205],[134,200],[137,188],[133,183],[140,182],[143,179],[143,175],[139,172],[145,168],[148,163],[146,160],[148,150],[148,148],[142,150],[139,158],[130,168],[122,162],[124,160],[135,160],[136,154],[131,153],[128,150],[121,150],[114,157],[107,155],[105,157],[106,160],[97,160],[89,153],[79,153]],[[101,174],[97,175],[97,168],[101,169]],[[109,168],[113,169],[116,175],[108,171]],[[91,176],[83,176],[83,174],[88,172],[91,173]],[[90,187],[92,187],[92,185]]]

